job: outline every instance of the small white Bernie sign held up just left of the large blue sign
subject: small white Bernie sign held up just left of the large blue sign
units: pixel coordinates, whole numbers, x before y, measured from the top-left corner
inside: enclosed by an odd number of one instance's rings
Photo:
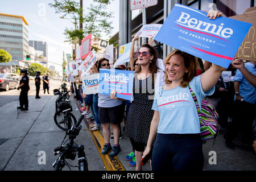
[[[142,38],[154,38],[161,27],[162,24],[144,24],[137,35]]]

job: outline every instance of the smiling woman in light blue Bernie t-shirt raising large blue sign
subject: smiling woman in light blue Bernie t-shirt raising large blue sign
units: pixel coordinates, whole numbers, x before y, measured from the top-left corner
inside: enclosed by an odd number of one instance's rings
[[[211,16],[220,15],[218,11],[213,11]],[[204,156],[200,122],[188,85],[201,106],[203,98],[213,94],[214,85],[225,68],[212,64],[206,72],[196,76],[195,59],[180,50],[172,51],[164,64],[166,85],[155,94],[152,106],[154,117],[142,158],[150,153],[156,137],[152,151],[153,171],[201,171]]]

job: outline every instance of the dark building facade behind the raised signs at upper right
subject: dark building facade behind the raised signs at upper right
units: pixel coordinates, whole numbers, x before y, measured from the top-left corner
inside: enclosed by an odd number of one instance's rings
[[[254,0],[158,0],[157,5],[146,8],[146,24],[163,24],[175,3],[205,11],[209,10],[210,3],[215,3],[217,10],[221,11],[225,17],[243,14],[247,8],[254,7]],[[119,45],[122,46],[131,42],[132,38],[142,27],[142,11],[135,18],[131,19],[130,0],[120,1],[119,6],[119,32],[112,37],[112,40],[119,40]],[[136,48],[139,48],[142,44],[142,39],[139,39],[137,45],[135,45],[135,52],[138,51]],[[153,46],[162,59],[165,59],[172,50],[170,46],[155,40]],[[114,59],[118,59],[118,49],[119,46],[114,48]]]

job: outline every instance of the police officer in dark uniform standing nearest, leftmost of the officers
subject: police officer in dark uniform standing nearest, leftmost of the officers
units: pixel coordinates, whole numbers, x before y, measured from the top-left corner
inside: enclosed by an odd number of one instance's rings
[[[22,75],[22,78],[19,81],[18,90],[21,89],[20,95],[19,95],[19,107],[18,109],[21,110],[28,110],[28,90],[30,90],[29,84],[29,78],[27,76],[28,72],[27,69],[22,69],[20,71],[20,74]],[[24,107],[23,107],[24,106]]]

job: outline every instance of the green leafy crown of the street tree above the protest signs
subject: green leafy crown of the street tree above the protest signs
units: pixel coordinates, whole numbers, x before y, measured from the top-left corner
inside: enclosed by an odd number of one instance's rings
[[[112,0],[94,0],[95,4],[90,5],[88,8],[88,14],[82,16],[82,10],[79,3],[72,0],[54,0],[54,3],[50,3],[49,6],[55,8],[55,13],[63,14],[63,17],[69,17],[73,20],[75,26],[77,22],[84,23],[84,30],[78,30],[75,27],[65,28],[64,35],[66,35],[66,42],[80,43],[81,40],[92,33],[93,40],[100,40],[102,34],[110,35],[113,27],[110,18],[113,13],[106,11],[106,6],[110,4]],[[100,49],[97,45],[92,45],[92,49],[96,52]]]

